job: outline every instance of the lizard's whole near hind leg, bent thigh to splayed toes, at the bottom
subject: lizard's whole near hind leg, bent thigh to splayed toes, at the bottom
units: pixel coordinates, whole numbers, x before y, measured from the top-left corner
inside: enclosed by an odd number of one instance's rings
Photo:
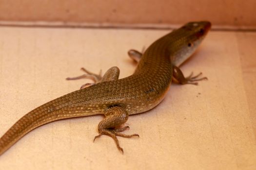
[[[129,129],[129,126],[125,126],[121,129],[115,129],[115,127],[120,126],[128,120],[128,113],[120,106],[113,106],[105,111],[105,116],[103,120],[98,123],[98,136],[95,136],[94,141],[101,135],[107,135],[114,139],[118,150],[123,153],[123,149],[120,147],[117,136],[121,137],[133,137],[138,136],[138,134],[125,135],[120,132],[123,132]]]

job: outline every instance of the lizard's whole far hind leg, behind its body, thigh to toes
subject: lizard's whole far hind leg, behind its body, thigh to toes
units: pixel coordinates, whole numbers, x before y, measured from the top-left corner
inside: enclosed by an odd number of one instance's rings
[[[88,87],[90,85],[95,85],[99,82],[118,80],[119,73],[120,73],[118,67],[109,68],[103,76],[101,76],[101,70],[99,71],[98,74],[92,73],[85,68],[81,68],[81,70],[84,71],[86,74],[83,74],[78,77],[66,78],[66,80],[91,79],[94,81],[94,83],[86,83],[86,84],[82,85],[80,87],[80,89]]]

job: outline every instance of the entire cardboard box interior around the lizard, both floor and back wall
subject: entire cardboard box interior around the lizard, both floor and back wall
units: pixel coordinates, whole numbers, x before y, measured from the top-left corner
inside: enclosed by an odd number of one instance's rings
[[[0,25],[167,28],[210,20],[214,29],[253,29],[255,0],[0,0]],[[175,26],[176,27],[176,26]],[[0,27],[0,136],[37,106],[79,89],[66,81],[85,67],[133,73],[131,48],[163,30]],[[171,85],[163,102],[129,117],[114,141],[98,134],[101,116],[55,121],[0,156],[3,170],[255,170],[256,33],[211,31],[181,69],[208,81]]]

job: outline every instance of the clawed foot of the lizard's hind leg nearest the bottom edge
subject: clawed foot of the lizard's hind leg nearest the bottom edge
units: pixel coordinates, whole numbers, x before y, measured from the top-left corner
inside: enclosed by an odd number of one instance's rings
[[[123,132],[123,131],[125,131],[127,129],[130,129],[129,126],[125,126],[125,127],[121,128],[121,129],[101,129],[100,132],[99,132],[99,135],[95,136],[93,141],[95,141],[95,139],[100,137],[101,135],[110,136],[116,142],[118,150],[123,154],[123,149],[119,145],[117,136],[128,137],[128,138],[133,137],[133,136],[138,136],[139,137],[138,134],[125,135],[125,134],[120,133],[120,132]]]

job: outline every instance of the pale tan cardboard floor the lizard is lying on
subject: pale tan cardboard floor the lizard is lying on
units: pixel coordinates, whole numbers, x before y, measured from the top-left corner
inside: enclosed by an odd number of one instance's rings
[[[0,27],[0,136],[37,106],[79,89],[83,74],[120,68],[120,78],[136,65],[131,48],[148,47],[168,31]],[[102,116],[43,125],[0,156],[3,170],[253,170],[256,33],[210,32],[181,66],[208,77],[195,85],[171,85],[163,102],[130,116],[118,137],[124,154],[108,136],[98,135]]]

